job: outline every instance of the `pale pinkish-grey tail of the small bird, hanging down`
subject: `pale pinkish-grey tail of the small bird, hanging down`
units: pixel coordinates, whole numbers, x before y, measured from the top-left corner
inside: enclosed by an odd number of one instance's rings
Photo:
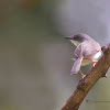
[[[80,57],[78,57],[76,59],[76,62],[74,63],[74,66],[73,66],[73,68],[70,70],[70,73],[72,73],[70,75],[77,74],[79,72],[80,65],[81,65],[81,61],[82,61],[82,56],[80,56]]]

